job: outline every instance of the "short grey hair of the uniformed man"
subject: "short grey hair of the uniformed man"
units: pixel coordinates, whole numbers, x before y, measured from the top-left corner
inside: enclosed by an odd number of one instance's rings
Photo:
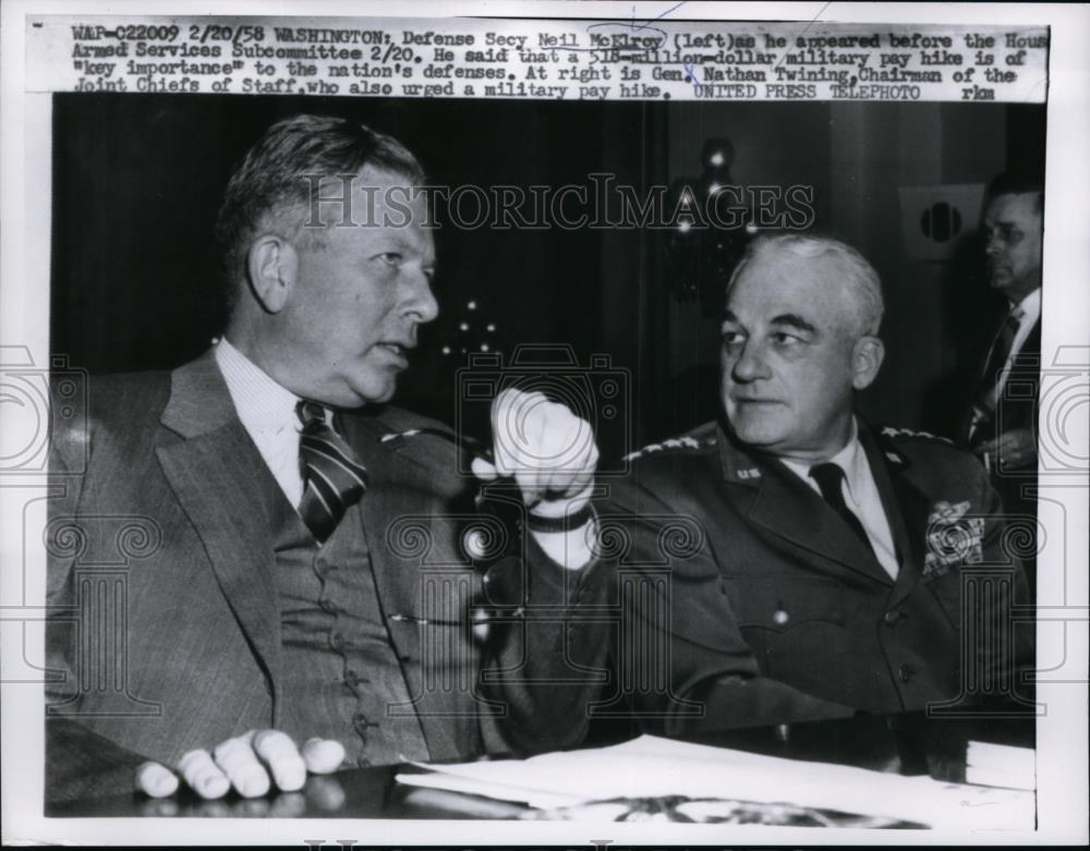
[[[882,325],[882,314],[885,312],[879,273],[862,254],[829,236],[804,233],[758,236],[746,248],[746,254],[730,276],[727,292],[730,292],[730,288],[750,263],[785,252],[809,260],[820,258],[833,265],[839,272],[840,279],[851,288],[850,309],[853,314],[855,330],[860,337],[877,335]]]

